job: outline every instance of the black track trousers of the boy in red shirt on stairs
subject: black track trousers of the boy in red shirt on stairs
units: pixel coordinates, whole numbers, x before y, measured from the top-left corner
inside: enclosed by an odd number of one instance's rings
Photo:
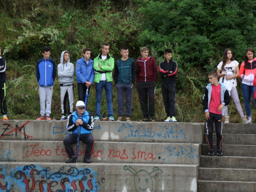
[[[208,141],[209,150],[214,149],[214,143],[212,141],[212,132],[214,130],[214,124],[215,124],[216,136],[217,136],[217,150],[221,150],[221,143],[223,140],[222,114],[210,113],[209,116],[210,116],[210,119],[206,120],[206,124],[205,124],[206,139]]]

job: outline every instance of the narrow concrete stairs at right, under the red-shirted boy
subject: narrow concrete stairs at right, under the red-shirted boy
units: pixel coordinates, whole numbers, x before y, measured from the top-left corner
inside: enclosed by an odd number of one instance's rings
[[[198,191],[256,191],[255,124],[224,124],[223,134],[223,157],[208,156],[204,134]]]

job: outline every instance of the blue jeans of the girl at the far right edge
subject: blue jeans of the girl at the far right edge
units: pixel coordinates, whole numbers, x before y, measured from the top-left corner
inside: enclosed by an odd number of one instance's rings
[[[251,95],[252,95],[252,100],[254,102],[255,109],[256,109],[256,101],[253,96],[255,89],[256,87],[254,86],[248,86],[247,84],[242,83],[242,92],[244,95],[244,108],[245,108],[246,115],[248,117],[251,116]]]

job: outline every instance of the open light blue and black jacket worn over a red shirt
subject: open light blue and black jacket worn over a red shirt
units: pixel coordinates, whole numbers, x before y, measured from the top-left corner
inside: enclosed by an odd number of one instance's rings
[[[225,106],[229,104],[230,102],[230,95],[227,91],[227,88],[221,84],[221,104],[224,104]],[[207,84],[205,90],[204,90],[204,96],[203,96],[203,110],[204,113],[209,112],[209,104],[210,104],[210,98],[211,98],[211,90],[212,90],[212,85],[211,83]],[[224,108],[222,109],[222,115],[224,116]]]

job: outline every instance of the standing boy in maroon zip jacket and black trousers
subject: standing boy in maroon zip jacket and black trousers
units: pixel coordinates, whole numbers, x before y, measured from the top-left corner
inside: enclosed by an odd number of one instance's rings
[[[156,60],[148,56],[148,48],[141,48],[142,57],[136,61],[136,82],[140,99],[140,107],[144,118],[140,121],[153,121],[155,115],[155,92],[157,81]],[[147,106],[149,101],[149,111]],[[148,116],[150,116],[148,118]]]

